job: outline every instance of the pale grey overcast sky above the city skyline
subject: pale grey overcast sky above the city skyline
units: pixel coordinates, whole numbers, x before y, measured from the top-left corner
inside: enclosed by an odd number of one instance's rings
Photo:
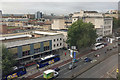
[[[34,1],[34,2],[33,2]],[[82,10],[97,10],[106,12],[118,9],[119,0],[4,0],[0,3],[3,14],[35,13],[41,11],[46,14],[69,14]],[[91,2],[90,2],[91,1]],[[110,2],[111,1],[111,2]]]

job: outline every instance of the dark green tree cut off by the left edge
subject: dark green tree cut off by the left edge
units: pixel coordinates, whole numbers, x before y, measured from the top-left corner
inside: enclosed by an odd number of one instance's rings
[[[16,64],[13,54],[2,45],[2,74],[6,75],[12,71],[12,67]]]

